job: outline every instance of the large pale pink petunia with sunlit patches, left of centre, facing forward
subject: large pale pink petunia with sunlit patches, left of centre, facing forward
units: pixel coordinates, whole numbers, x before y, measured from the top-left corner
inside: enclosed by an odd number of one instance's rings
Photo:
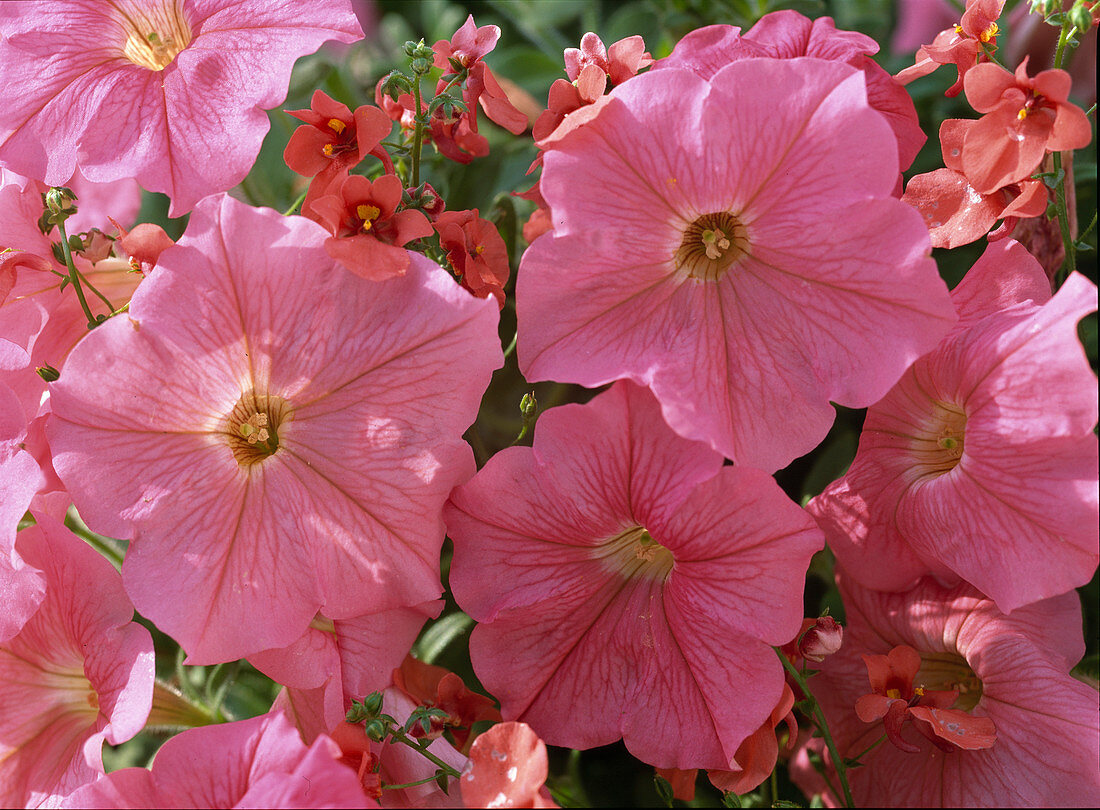
[[[128,592],[195,663],[440,592],[497,308],[419,255],[365,282],[323,241],[204,201],[52,387],[54,467],[89,526],[132,540]]]

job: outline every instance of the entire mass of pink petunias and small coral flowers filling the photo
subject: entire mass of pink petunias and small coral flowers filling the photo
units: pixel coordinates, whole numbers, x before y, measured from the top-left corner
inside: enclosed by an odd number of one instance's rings
[[[415,86],[376,106],[290,111],[285,216],[224,191],[295,59],[362,35],[346,0],[4,3],[0,797],[554,807],[547,744],[620,740],[680,798],[698,769],[744,793],[785,730],[834,803],[1100,803],[1097,692],[1069,675],[1100,561],[1097,289],[1052,293],[1007,238],[950,292],[932,259],[1045,210],[1032,175],[1091,138],[1066,74],[982,58],[1002,4],[901,76],[955,64],[983,113],[904,196],[925,135],[870,37],[781,11],[654,61],[586,34],[534,122],[513,294],[488,208],[419,176],[426,144],[487,153],[479,107],[527,130],[496,26],[409,43]],[[190,212],[178,241],[133,226],[135,182]],[[607,387],[479,464],[513,303],[528,382]],[[834,404],[868,408],[859,449],[803,508],[773,473]],[[825,544],[845,627],[804,617]],[[446,595],[491,697],[409,655]],[[270,712],[105,773],[105,741],[183,700],[135,610],[187,665],[278,683]],[[811,666],[827,747],[793,713]]]

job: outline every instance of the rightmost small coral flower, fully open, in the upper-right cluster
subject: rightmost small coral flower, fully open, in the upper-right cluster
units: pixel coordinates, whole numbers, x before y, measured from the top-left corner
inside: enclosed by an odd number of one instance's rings
[[[1035,172],[1047,152],[1089,145],[1089,120],[1067,101],[1071,81],[1065,70],[1028,77],[1026,57],[1015,74],[992,64],[967,74],[967,100],[986,113],[963,143],[963,171],[976,189],[989,193],[1019,183]]]

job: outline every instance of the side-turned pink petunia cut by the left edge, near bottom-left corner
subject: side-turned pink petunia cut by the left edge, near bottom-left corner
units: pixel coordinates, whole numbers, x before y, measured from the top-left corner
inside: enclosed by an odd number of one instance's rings
[[[103,741],[141,731],[153,700],[153,639],[131,621],[118,572],[59,522],[35,517],[16,545],[42,571],[45,599],[0,643],[4,807],[55,802],[96,779]]]

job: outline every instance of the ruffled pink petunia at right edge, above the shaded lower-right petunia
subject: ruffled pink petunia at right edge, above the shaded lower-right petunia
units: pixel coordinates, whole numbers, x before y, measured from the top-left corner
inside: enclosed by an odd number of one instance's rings
[[[1077,322],[1096,286],[1050,298],[994,242],[953,292],[959,325],[864,423],[847,474],[807,508],[862,585],[963,578],[1002,611],[1082,585],[1098,548],[1096,376]]]

